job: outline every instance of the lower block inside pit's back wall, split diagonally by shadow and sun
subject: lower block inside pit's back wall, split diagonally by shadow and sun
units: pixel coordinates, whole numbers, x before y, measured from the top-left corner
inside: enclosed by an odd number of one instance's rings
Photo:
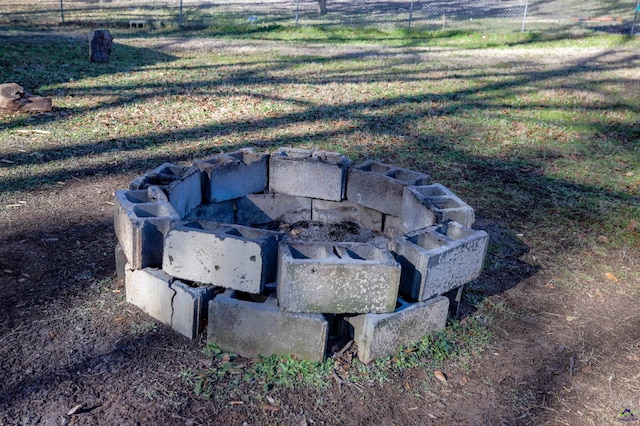
[[[236,223],[244,226],[311,220],[311,198],[286,194],[251,194],[234,201]]]

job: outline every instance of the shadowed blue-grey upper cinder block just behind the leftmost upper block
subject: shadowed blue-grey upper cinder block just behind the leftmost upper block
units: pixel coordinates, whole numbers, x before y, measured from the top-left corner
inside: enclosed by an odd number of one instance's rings
[[[202,177],[197,167],[165,163],[130,184],[130,189],[145,189],[155,185],[167,194],[169,202],[184,217],[202,203]]]

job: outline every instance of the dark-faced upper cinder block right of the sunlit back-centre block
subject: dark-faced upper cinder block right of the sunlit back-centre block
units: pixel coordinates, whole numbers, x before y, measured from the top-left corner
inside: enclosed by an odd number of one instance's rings
[[[402,216],[402,191],[407,185],[426,185],[427,174],[368,160],[347,174],[347,199],[391,216]]]

